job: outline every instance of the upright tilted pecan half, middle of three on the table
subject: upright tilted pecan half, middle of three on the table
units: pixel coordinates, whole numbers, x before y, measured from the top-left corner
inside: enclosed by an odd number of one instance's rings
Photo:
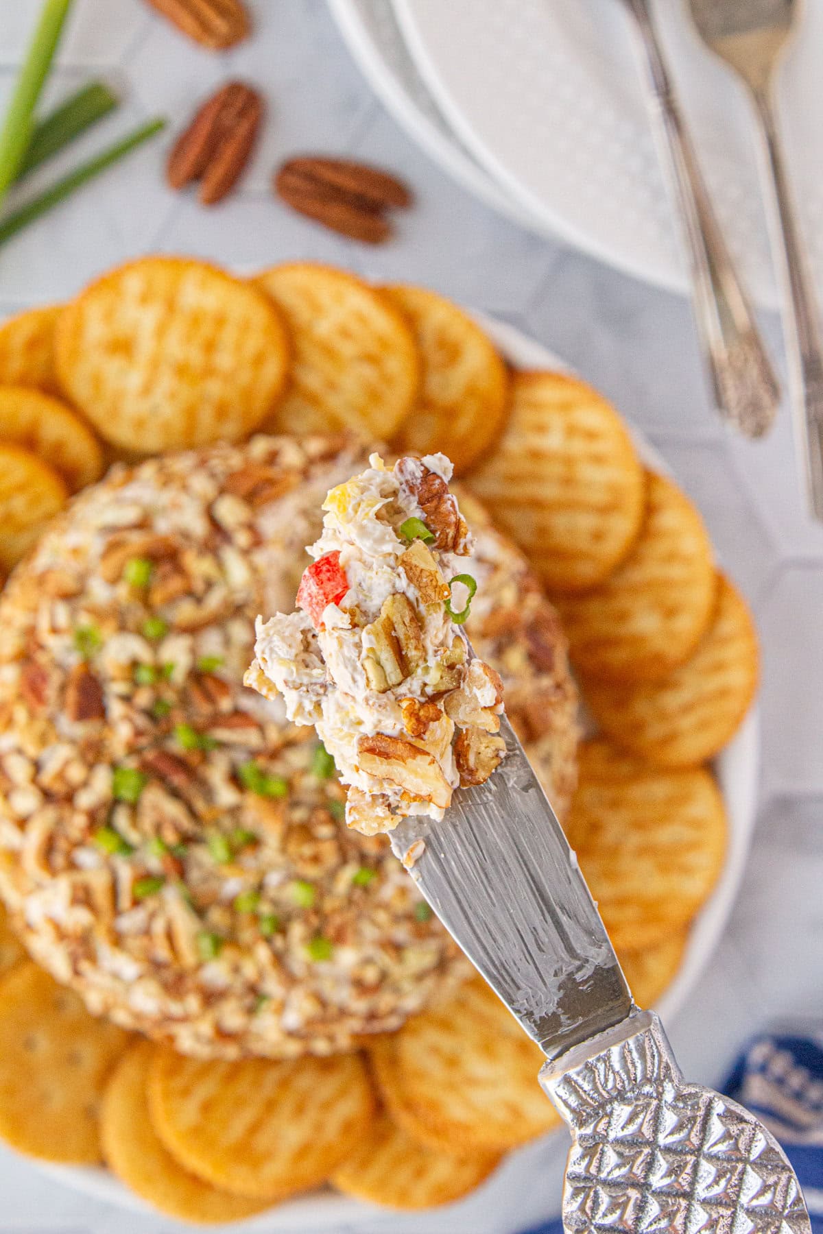
[[[165,168],[173,189],[200,180],[200,201],[222,201],[248,163],[263,100],[242,81],[228,81],[200,107],[178,138]]]

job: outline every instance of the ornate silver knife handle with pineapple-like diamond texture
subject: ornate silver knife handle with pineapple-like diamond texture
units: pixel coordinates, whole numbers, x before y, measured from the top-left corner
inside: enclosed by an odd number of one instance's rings
[[[775,1138],[737,1102],[684,1081],[654,1013],[547,1062],[540,1083],[574,1137],[568,1232],[811,1234]]]

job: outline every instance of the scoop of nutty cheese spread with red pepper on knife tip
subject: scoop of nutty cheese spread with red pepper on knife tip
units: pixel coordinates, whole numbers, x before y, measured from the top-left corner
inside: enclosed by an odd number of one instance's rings
[[[247,684],[313,724],[365,834],[442,818],[460,785],[498,765],[501,682],[461,629],[475,580],[443,454],[369,468],[332,489],[297,610],[257,619]]]

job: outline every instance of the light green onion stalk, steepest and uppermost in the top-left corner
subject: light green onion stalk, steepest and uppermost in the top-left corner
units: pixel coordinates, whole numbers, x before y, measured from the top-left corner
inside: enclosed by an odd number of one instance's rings
[[[33,114],[72,0],[46,0],[0,128],[0,202],[14,184],[33,132]]]

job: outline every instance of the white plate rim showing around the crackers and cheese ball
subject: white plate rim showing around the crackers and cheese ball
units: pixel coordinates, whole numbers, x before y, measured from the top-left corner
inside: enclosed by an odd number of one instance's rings
[[[495,339],[501,352],[515,366],[568,369],[568,365],[559,360],[556,355],[553,355],[540,343],[515,329],[513,326],[480,313],[476,316]],[[656,450],[637,433],[633,436],[638,453],[642,455],[644,463],[659,470],[666,470]],[[726,564],[733,565],[733,563]],[[734,573],[733,569],[732,573]],[[717,779],[729,819],[729,848],[721,880],[692,928],[680,972],[658,1007],[666,1023],[671,1023],[672,1017],[682,1007],[695,988],[701,972],[711,960],[737,897],[754,827],[759,748],[758,712],[754,708],[734,740],[717,760]],[[536,1146],[532,1144],[511,1154],[507,1157],[505,1169],[498,1170],[484,1185],[482,1195],[475,1202],[481,1198],[482,1212],[486,1219],[489,1214],[494,1214],[495,1212],[502,1213],[505,1209],[507,1228],[516,1229],[518,1227],[517,1196],[528,1193],[529,1176],[534,1169],[534,1149]],[[105,1170],[54,1166],[42,1162],[41,1165],[52,1177],[89,1196],[94,1196],[96,1199],[132,1209],[146,1208],[141,1199]],[[521,1175],[519,1178],[517,1177],[518,1174]],[[464,1206],[471,1203],[471,1197],[464,1201]],[[558,1195],[558,1206],[559,1203],[560,1197]],[[461,1206],[449,1208],[449,1223],[452,1219],[457,1223],[460,1212]],[[345,1199],[331,1191],[320,1191],[299,1199],[289,1201],[268,1213],[254,1217],[243,1223],[243,1229],[320,1232],[347,1224],[357,1224],[358,1228],[362,1228],[371,1222],[385,1220],[385,1209]],[[420,1219],[422,1228],[424,1214],[421,1213]],[[480,1213],[476,1214],[476,1220],[480,1220]],[[455,1224],[453,1228],[458,1229],[460,1227]],[[471,1228],[475,1228],[474,1219]],[[486,1227],[481,1222],[478,1228],[485,1229]]]

